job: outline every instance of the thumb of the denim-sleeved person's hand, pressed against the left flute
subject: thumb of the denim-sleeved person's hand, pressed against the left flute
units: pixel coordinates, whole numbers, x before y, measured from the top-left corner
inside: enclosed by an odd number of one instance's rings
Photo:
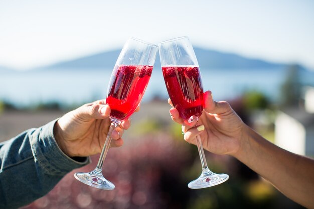
[[[93,104],[90,106],[81,106],[75,111],[75,115],[83,121],[92,119],[104,119],[110,115],[110,107],[104,104]]]

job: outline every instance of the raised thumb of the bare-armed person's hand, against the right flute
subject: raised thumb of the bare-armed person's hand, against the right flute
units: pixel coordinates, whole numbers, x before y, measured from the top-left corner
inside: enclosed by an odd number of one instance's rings
[[[211,91],[206,91],[204,93],[204,103],[204,109],[208,113],[222,114],[228,112],[231,109],[229,103],[226,101],[214,101]]]

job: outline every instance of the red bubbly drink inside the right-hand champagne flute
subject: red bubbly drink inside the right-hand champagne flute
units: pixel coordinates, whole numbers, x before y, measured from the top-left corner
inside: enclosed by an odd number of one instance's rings
[[[198,66],[164,66],[163,76],[171,102],[183,119],[203,112],[203,87]]]

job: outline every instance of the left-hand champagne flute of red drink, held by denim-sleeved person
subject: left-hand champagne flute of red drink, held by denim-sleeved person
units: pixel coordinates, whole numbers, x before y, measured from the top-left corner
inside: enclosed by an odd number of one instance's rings
[[[138,107],[155,62],[158,46],[139,39],[130,38],[117,59],[107,89],[106,104],[110,106],[111,125],[99,157],[97,167],[89,173],[75,173],[77,180],[103,190],[114,189],[114,184],[102,175],[111,133],[119,123],[127,120]]]

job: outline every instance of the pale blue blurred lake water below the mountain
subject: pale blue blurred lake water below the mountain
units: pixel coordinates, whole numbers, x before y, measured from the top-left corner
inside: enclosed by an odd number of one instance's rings
[[[204,90],[215,100],[230,100],[244,91],[257,90],[277,100],[286,71],[284,69],[201,69]],[[49,70],[0,74],[0,100],[17,106],[40,102],[82,104],[105,98],[111,69]],[[303,83],[314,86],[314,73],[302,72]],[[143,102],[154,97],[168,98],[161,69],[154,69]]]

